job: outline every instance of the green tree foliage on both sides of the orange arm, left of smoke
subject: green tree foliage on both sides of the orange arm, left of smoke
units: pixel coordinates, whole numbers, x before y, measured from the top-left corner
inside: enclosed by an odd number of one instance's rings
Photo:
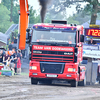
[[[0,4],[0,32],[5,33],[11,24],[19,23],[18,10],[20,10],[20,6],[18,4],[15,5],[15,1],[18,0],[2,0]],[[29,23],[34,24],[40,22],[40,15],[37,15],[36,10],[30,7]]]

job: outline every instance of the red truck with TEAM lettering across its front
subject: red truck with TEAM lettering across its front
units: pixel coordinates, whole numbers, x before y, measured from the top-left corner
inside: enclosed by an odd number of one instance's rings
[[[83,53],[83,26],[68,25],[66,21],[33,25],[29,77],[31,84],[38,81],[52,84],[63,80],[72,87],[86,85]]]

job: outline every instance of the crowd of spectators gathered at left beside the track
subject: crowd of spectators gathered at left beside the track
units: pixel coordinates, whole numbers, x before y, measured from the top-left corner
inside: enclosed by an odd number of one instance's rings
[[[12,48],[11,51],[0,50],[0,63],[3,64],[3,69],[8,69],[14,72],[15,74],[21,74],[21,50],[17,51],[15,48]]]

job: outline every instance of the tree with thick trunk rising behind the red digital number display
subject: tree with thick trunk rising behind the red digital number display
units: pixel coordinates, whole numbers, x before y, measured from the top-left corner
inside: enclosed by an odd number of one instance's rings
[[[59,13],[61,11],[66,11],[66,8],[70,8],[71,5],[76,5],[76,10],[78,13],[80,13],[82,10],[84,10],[81,7],[81,4],[83,2],[86,2],[86,8],[88,8],[91,12],[91,21],[90,24],[95,24],[96,23],[96,18],[97,18],[97,13],[99,12],[100,9],[100,3],[98,2],[99,0],[53,0],[53,6],[51,7],[52,13]],[[88,10],[87,9],[87,10]],[[87,12],[85,9],[85,11]]]

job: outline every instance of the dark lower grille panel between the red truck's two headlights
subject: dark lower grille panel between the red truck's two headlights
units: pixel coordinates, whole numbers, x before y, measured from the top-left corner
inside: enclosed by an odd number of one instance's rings
[[[41,73],[62,74],[65,63],[40,62]]]

